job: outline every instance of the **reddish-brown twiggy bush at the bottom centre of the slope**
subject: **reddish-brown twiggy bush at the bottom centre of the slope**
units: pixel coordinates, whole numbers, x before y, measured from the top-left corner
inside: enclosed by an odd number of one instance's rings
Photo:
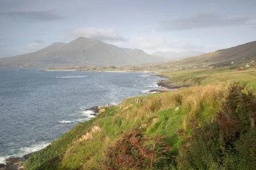
[[[139,131],[122,135],[106,152],[102,163],[105,170],[153,170],[157,162],[167,159],[169,145],[164,142],[168,136],[145,138]]]

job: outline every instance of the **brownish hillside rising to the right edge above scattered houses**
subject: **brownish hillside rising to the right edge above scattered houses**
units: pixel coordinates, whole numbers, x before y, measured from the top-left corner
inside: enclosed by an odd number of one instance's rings
[[[256,59],[256,41],[177,61],[179,64],[247,62]]]

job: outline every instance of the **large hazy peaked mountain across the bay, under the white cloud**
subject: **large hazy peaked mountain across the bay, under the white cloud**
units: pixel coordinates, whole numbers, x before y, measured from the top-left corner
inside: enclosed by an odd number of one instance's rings
[[[69,43],[55,42],[36,52],[0,58],[6,67],[58,67],[134,65],[164,60],[140,49],[119,48],[99,40],[79,37]]]

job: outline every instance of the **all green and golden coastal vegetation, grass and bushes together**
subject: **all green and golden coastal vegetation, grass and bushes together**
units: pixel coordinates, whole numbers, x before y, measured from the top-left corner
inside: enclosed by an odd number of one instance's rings
[[[25,168],[256,168],[254,69],[169,69],[160,74],[192,87],[128,98],[106,108],[35,153]]]

